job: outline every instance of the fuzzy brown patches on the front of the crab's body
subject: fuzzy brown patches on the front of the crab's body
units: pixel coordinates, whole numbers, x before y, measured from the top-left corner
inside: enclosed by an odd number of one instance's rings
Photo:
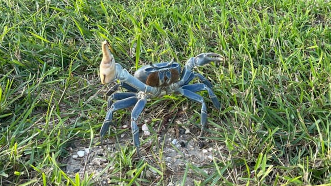
[[[165,75],[164,83],[160,84],[159,72],[153,72],[149,74],[149,76],[147,76],[146,84],[149,86],[157,87],[157,86],[167,86],[171,83],[177,82],[179,78],[178,71],[176,69],[170,69],[170,73],[171,73],[171,78],[169,83],[166,82],[168,78]]]

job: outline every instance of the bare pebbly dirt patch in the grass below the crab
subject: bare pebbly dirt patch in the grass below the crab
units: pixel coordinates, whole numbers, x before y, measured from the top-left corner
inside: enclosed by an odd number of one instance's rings
[[[152,168],[145,168],[140,175],[140,178],[150,180],[150,183],[145,185],[154,185],[153,183],[158,183],[162,179],[164,185],[175,186],[182,182],[188,163],[197,167],[209,167],[208,165],[213,164],[214,158],[224,160],[225,157],[223,155],[226,152],[223,152],[222,147],[212,140],[197,137],[201,130],[196,125],[189,123],[189,116],[188,114],[176,117],[173,121],[175,124],[169,125],[167,123],[161,129],[158,128],[158,125],[153,126],[151,130],[152,137],[144,135],[144,132],[141,130],[142,127],[139,126],[142,141],[140,147],[141,158],[163,173],[163,176],[160,176]],[[107,138],[103,146],[96,145],[89,149],[88,143],[81,144],[77,142],[74,144],[75,147],[70,149],[70,156],[63,162],[67,164],[65,170],[67,174],[74,175],[78,172],[81,177],[84,173],[88,175],[93,174],[96,185],[125,185],[123,182],[113,178],[115,175],[115,177],[125,177],[125,172],[131,170],[132,167],[123,167],[121,171],[118,171],[118,174],[112,174],[114,169],[118,167],[116,165],[118,160],[112,161],[112,159],[119,156],[120,151],[123,151],[123,149],[130,149],[130,151],[134,149],[131,129],[128,128],[129,122],[124,122],[121,129],[126,127],[127,130],[118,134],[117,137]],[[209,135],[208,132],[204,132],[204,136]],[[95,138],[94,141],[99,142],[99,139]],[[81,151],[79,153],[84,152],[84,155],[79,157],[78,151]],[[140,161],[136,153],[132,159],[133,162]],[[213,174],[215,171],[213,168],[202,169],[206,174]],[[126,178],[131,179],[130,177]],[[193,172],[189,168],[185,185],[193,186],[194,180],[204,181],[198,173]],[[144,183],[141,184],[144,185]]]

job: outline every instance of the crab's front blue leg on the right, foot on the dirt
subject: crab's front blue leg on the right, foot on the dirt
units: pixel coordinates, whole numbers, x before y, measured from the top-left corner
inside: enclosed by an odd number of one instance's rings
[[[206,107],[206,104],[205,104],[205,101],[204,101],[203,97],[200,96],[197,93],[194,93],[190,90],[183,89],[183,88],[180,88],[178,90],[178,92],[181,93],[183,96],[202,104],[201,116],[200,116],[200,123],[201,123],[201,134],[200,134],[200,136],[201,136],[203,134],[203,130],[204,130],[206,122],[207,122],[207,107]]]

